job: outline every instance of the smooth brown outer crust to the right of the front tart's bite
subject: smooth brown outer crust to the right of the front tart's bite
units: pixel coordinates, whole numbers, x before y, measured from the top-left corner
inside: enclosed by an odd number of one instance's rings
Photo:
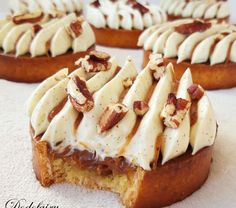
[[[212,162],[213,146],[191,155],[189,150],[165,165],[145,171],[135,208],[165,207],[181,201],[206,181]]]

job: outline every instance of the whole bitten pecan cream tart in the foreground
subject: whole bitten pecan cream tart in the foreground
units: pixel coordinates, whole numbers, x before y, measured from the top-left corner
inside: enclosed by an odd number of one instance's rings
[[[207,179],[217,125],[187,69],[158,55],[137,74],[128,58],[93,51],[46,79],[27,104],[42,186],[70,182],[118,193],[126,207],[183,200]]]

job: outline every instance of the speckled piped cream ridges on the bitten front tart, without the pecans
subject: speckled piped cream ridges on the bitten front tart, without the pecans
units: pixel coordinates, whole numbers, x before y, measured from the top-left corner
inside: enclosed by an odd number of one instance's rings
[[[68,75],[68,71],[63,69],[46,79],[37,87],[27,105],[34,136],[41,135],[41,141],[47,141],[58,152],[71,146],[72,152],[75,149],[96,152],[100,160],[123,156],[145,170],[151,170],[151,163],[157,159],[157,149],[161,149],[162,163],[165,163],[184,154],[189,144],[193,154],[212,145],[216,121],[206,93],[197,103],[197,120],[192,126],[190,110],[178,128],[164,126],[161,112],[169,94],[175,90],[176,80],[173,65],[159,66],[158,59],[152,59],[139,74],[131,58],[118,71],[117,60],[111,57],[106,71],[89,73],[79,67]],[[154,69],[162,70],[159,81],[153,79]],[[82,95],[75,84],[75,75],[86,83],[93,98],[93,108],[87,112],[79,113],[68,99],[68,94],[78,99]],[[129,88],[124,85],[126,79],[134,80]],[[191,85],[191,71],[188,69],[179,82],[176,97],[191,102],[187,91]],[[65,104],[61,110],[48,119],[50,112],[62,101]],[[149,106],[142,117],[135,113],[135,101],[145,101]],[[97,127],[101,116],[108,106],[116,103],[124,105],[128,112],[112,128],[99,133]],[[75,125],[78,117],[81,121]]]

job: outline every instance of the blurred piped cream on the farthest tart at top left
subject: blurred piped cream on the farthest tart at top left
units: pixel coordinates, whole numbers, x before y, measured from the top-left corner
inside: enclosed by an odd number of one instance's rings
[[[83,4],[81,0],[10,0],[9,7],[14,15],[34,12],[56,15],[57,13],[79,13]]]

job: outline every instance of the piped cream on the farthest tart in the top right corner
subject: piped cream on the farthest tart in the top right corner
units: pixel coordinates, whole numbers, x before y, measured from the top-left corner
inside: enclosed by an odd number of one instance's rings
[[[224,19],[229,17],[229,4],[218,0],[162,0],[160,7],[182,18]]]

